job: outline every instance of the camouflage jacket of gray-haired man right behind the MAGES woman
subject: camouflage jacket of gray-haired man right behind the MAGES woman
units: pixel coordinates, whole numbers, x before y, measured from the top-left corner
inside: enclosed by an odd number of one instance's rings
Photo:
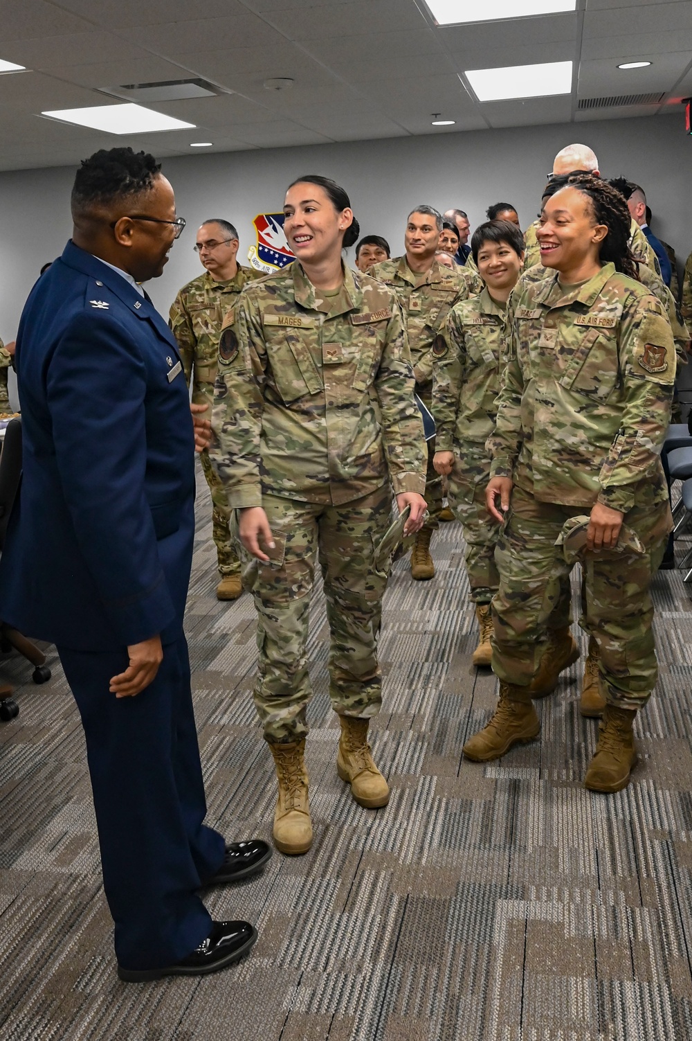
[[[369,274],[396,294],[406,319],[416,390],[429,400],[435,350],[441,350],[441,339],[438,341],[437,337],[444,329],[446,316],[460,300],[480,293],[483,282],[470,269],[451,271],[437,260],[425,275],[414,277],[406,256],[383,260],[370,268]]]

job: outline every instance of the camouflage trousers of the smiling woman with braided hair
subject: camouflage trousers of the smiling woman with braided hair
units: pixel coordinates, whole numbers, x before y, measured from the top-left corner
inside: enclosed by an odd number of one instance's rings
[[[555,545],[569,517],[586,507],[556,506],[514,487],[508,522],[497,545],[499,589],[492,601],[492,669],[506,683],[527,686],[546,649],[549,619],[564,599],[570,566]],[[635,507],[624,524],[645,553],[588,556],[582,629],[599,649],[604,694],[610,704],[642,708],[658,676],[649,594],[671,529],[667,502]]]

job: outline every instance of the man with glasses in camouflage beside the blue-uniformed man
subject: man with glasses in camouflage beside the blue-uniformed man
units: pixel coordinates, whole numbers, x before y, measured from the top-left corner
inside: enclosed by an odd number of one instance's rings
[[[205,221],[197,232],[195,250],[206,271],[182,287],[171,308],[171,328],[178,341],[188,386],[193,379],[193,402],[208,405],[207,416],[211,416],[224,316],[246,283],[262,277],[261,272],[240,266],[238,246],[238,233],[228,221]],[[216,596],[236,600],[242,592],[240,563],[231,542],[226,492],[206,450],[200,454],[200,459],[213,504],[212,532],[220,574]]]

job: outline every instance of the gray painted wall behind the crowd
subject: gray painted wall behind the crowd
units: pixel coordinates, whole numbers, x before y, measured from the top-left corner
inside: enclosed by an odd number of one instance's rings
[[[574,139],[596,151],[604,174],[624,174],[644,186],[658,218],[655,230],[684,262],[692,251],[692,137],[685,135],[682,112],[676,112],[166,159],[163,171],[187,228],[163,276],[148,289],[168,313],[178,288],[202,271],[193,246],[205,218],[233,221],[240,256],[247,256],[255,214],[280,210],[285,186],[305,173],[326,174],[342,184],[361,232],[383,234],[395,252],[409,210],[421,202],[440,209],[460,206],[475,227],[490,203],[508,201],[526,227],[536,215],[553,156]],[[0,174],[0,336],[5,340],[16,334],[39,269],[60,253],[70,235],[73,176],[71,168]]]

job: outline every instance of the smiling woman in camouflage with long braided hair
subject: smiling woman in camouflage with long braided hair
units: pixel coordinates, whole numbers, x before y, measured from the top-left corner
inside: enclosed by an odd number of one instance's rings
[[[630,214],[603,180],[572,175],[544,199],[540,281],[514,305],[498,398],[490,513],[505,525],[492,602],[499,704],[464,746],[495,759],[537,737],[532,697],[578,657],[569,628],[548,634],[561,584],[581,559],[582,628],[598,644],[604,718],[585,783],[623,788],[632,727],[657,679],[651,577],[671,528],[660,450],[675,349],[661,303],[635,281]],[[499,500],[499,503],[497,502]]]

